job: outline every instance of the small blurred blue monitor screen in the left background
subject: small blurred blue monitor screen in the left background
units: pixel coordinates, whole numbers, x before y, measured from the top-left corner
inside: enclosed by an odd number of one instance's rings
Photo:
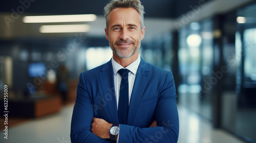
[[[46,75],[46,65],[44,63],[30,63],[28,74],[30,77],[44,77]]]

